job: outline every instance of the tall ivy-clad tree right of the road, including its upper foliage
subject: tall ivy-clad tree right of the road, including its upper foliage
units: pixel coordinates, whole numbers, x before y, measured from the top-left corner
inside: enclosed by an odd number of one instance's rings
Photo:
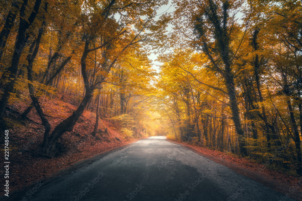
[[[205,2],[183,2],[179,1],[175,13],[178,15],[185,12],[188,22],[184,18],[179,18],[193,33],[186,35],[192,39],[191,43],[201,49],[210,60],[211,69],[219,73],[226,85],[229,96],[229,104],[232,111],[232,119],[238,134],[239,148],[243,155],[247,155],[244,143],[244,132],[240,121],[240,111],[236,100],[236,85],[234,82],[233,60],[236,51],[232,47],[232,38],[235,37],[238,27],[234,22],[236,9],[240,7],[240,2],[212,0]],[[192,8],[193,12],[187,11],[185,7]],[[184,14],[184,13],[183,13]],[[190,27],[191,26],[191,27]],[[191,38],[195,37],[195,39]],[[240,44],[239,44],[240,46]]]

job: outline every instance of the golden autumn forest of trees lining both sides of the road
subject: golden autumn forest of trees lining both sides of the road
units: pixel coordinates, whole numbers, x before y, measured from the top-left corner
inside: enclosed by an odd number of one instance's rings
[[[123,139],[165,135],[302,175],[300,1],[3,0],[0,7],[1,132],[37,124],[39,157],[74,147],[62,139],[90,112],[91,127],[72,139],[85,133],[98,141],[110,122]],[[73,109],[50,113],[54,103]]]

